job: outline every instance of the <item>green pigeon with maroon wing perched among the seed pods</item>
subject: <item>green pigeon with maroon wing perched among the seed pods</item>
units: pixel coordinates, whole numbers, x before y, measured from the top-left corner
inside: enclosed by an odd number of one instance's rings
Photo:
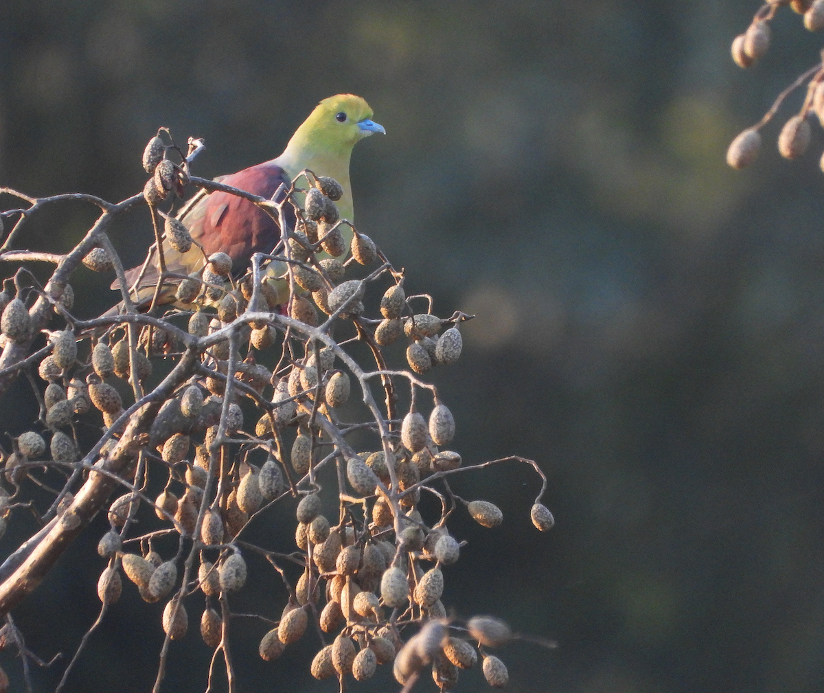
[[[330,176],[339,182],[343,195],[337,202],[340,218],[353,221],[352,190],[349,185],[349,158],[359,140],[386,130],[372,122],[372,109],[360,96],[339,94],[319,103],[295,131],[286,149],[269,162],[250,166],[220,181],[240,190],[271,198],[279,185],[290,182],[304,169],[317,176]],[[222,251],[232,258],[232,272],[246,269],[255,252],[271,252],[280,240],[280,229],[268,214],[255,204],[222,192],[199,193],[180,212],[180,221],[203,246],[184,254],[163,244],[166,269],[190,274],[201,269],[205,255]],[[140,268],[129,270],[129,284],[138,278]],[[140,283],[141,300],[151,298],[148,287],[157,283],[157,268],[152,263]],[[112,285],[117,288],[117,283]],[[167,292],[164,292],[167,293]],[[169,297],[171,298],[171,296]]]

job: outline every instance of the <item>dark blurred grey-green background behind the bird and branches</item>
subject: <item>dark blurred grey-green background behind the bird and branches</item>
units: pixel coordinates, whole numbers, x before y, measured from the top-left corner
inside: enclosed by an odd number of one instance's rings
[[[467,461],[533,457],[550,478],[548,536],[528,520],[526,469],[456,482],[506,519],[456,522],[470,544],[444,602],[559,644],[503,649],[509,690],[822,691],[824,137],[784,162],[771,124],[751,170],[723,162],[822,42],[784,9],[742,72],[728,46],[757,7],[6,0],[0,185],[123,199],[161,125],[205,138],[196,171],[216,176],[277,156],[321,98],[366,97],[388,135],[353,155],[359,229],[440,314],[477,315],[461,361],[433,372],[454,446]],[[115,232],[127,260],[150,242],[146,216]],[[90,219],[68,206],[21,241],[64,250]],[[77,274],[89,314],[114,302],[108,283]],[[25,401],[4,403],[9,431]],[[273,523],[287,538],[289,513]],[[43,658],[94,619],[104,529],[16,610]],[[283,593],[253,568],[246,606],[276,617]],[[161,610],[126,585],[67,690],[149,690]],[[177,693],[206,686],[190,613],[171,648]],[[261,662],[265,630],[237,635],[241,691],[336,690],[309,677],[311,634]],[[0,661],[21,690],[20,664]],[[59,678],[33,677],[36,691]],[[483,687],[469,672],[456,690]],[[396,688],[388,671],[352,686]]]

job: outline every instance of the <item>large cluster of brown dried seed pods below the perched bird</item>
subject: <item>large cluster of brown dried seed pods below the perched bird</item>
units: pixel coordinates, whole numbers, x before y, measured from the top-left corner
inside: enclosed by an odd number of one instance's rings
[[[187,162],[166,158],[172,148],[158,136],[143,154],[152,207],[186,183]],[[227,600],[245,588],[247,560],[258,554],[287,599],[277,620],[266,617],[271,625],[259,644],[266,661],[319,629],[330,643],[321,642],[311,663],[318,679],[363,681],[391,664],[405,683],[428,667],[442,690],[452,690],[461,669],[480,666],[491,686],[504,686],[506,667],[485,648],[505,644],[508,626],[476,616],[453,630],[443,601],[465,545],[449,518],[466,513],[494,528],[503,513],[489,500],[462,499],[443,480],[475,467],[448,449],[455,418],[419,378],[456,362],[469,316],[442,318],[431,298],[407,296],[403,274],[339,217],[341,186],[311,171],[303,176],[308,190],[296,184],[278,203],[296,221],[269,257],[253,260],[242,276],[229,255],[205,257],[203,269],[180,280],[177,307],[166,315],[115,316],[83,329],[67,313],[70,286],[61,287],[53,307],[65,325],[43,330],[47,348],[37,367],[40,421],[13,438],[5,478],[19,492],[59,468],[68,482],[53,512],[63,518],[102,471],[121,482],[97,547],[105,560],[97,594],[104,609],[117,602],[125,577],[145,602],[165,602],[158,628],[168,639],[187,636],[196,608],[204,643],[223,648],[232,628]],[[191,249],[180,219],[156,208],[152,218],[162,219],[174,250]],[[116,258],[105,248],[93,247],[83,264],[111,269]],[[424,299],[426,311],[415,312]],[[29,302],[25,288],[6,284],[2,339],[41,344]],[[372,315],[368,307],[378,302]],[[409,369],[390,371],[387,348],[401,336]],[[171,373],[157,384],[156,370]],[[401,388],[410,401],[399,411]],[[348,420],[353,415],[359,418]],[[143,423],[129,428],[136,421]],[[96,446],[82,447],[78,424],[101,430]],[[359,450],[351,447],[355,436]],[[531,521],[547,531],[555,521],[540,503],[545,476],[528,462],[543,480]],[[327,490],[318,479],[329,467],[338,484],[324,482]],[[426,494],[440,501],[437,512],[420,503]],[[12,500],[0,485],[0,534]],[[246,527],[274,503],[293,503],[295,546],[246,541]]]

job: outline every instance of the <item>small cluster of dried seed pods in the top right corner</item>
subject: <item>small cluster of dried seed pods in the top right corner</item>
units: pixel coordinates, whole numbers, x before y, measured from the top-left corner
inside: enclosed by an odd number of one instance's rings
[[[766,2],[756,12],[751,25],[733,40],[733,60],[742,68],[748,68],[760,59],[770,46],[770,21],[781,6],[789,5],[795,12],[803,15],[804,26],[808,30],[824,29],[824,0],[775,0]],[[799,77],[791,89],[785,90],[775,105],[764,118],[751,128],[739,133],[727,150],[727,163],[736,169],[746,168],[758,157],[761,151],[761,128],[767,124],[781,102],[793,88],[807,82],[807,98],[798,114],[791,116],[778,137],[778,150],[785,159],[796,159],[807,151],[812,137],[810,119],[817,118],[824,126],[824,66],[820,63],[808,73]],[[824,155],[821,163],[824,171]]]

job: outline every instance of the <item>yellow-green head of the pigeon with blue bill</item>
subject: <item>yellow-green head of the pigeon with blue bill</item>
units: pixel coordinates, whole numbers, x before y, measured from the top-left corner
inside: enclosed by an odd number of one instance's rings
[[[288,148],[322,148],[348,157],[355,143],[372,133],[386,134],[386,130],[372,122],[369,104],[360,96],[338,94],[316,105],[294,133]]]

